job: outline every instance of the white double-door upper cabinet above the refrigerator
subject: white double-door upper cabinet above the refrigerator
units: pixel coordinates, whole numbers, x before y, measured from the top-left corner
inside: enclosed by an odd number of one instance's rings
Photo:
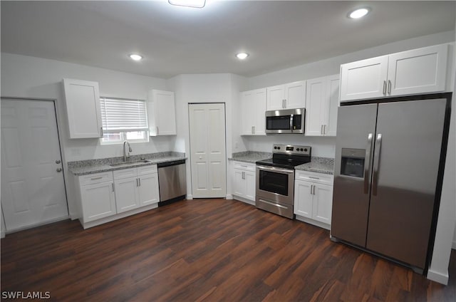
[[[341,102],[445,91],[447,44],[341,65]]]

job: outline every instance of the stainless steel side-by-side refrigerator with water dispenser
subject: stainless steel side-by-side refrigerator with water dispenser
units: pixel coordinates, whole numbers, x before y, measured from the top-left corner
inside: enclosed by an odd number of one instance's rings
[[[331,239],[420,273],[435,234],[450,112],[450,94],[434,97],[338,108]]]

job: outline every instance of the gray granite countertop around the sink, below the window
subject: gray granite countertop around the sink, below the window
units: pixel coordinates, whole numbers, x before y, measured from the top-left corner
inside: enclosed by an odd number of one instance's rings
[[[136,160],[147,160],[147,162],[135,162]],[[173,162],[175,160],[187,160],[185,153],[180,152],[159,152],[142,155],[132,155],[130,162],[135,162],[131,165],[122,165],[113,167],[111,164],[123,162],[123,157],[109,157],[98,160],[80,160],[77,162],[68,162],[68,170],[73,175],[89,175],[99,172],[108,172],[114,170],[130,169],[133,167],[142,167],[147,165],[156,165],[162,162]]]

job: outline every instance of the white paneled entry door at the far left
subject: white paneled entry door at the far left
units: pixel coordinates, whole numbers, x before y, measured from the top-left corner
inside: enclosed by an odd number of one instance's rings
[[[1,99],[1,207],[6,231],[68,217],[51,101]]]

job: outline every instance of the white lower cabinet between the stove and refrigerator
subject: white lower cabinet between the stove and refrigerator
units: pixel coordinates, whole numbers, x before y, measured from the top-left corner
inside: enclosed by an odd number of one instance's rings
[[[296,219],[329,229],[333,204],[333,175],[296,171],[294,214]]]

